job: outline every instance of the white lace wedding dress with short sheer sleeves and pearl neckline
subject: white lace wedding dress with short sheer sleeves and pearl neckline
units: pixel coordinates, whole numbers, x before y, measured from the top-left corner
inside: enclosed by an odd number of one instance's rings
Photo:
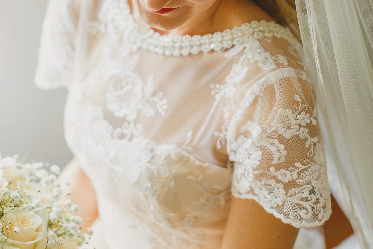
[[[109,248],[219,248],[232,194],[295,227],[329,217],[317,108],[288,29],[172,37],[136,24],[124,0],[81,2],[74,23],[69,1],[50,1],[36,83],[69,88],[66,141]]]

